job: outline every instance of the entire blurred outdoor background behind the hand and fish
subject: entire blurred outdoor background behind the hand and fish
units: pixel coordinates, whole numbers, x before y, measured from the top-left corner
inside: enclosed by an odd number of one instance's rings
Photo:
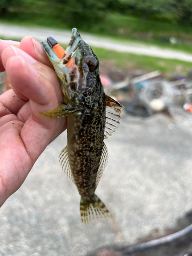
[[[191,25],[190,0],[1,0],[1,39],[53,36],[66,48],[76,27],[105,93],[125,108],[97,187],[113,219],[80,223],[80,196],[58,163],[65,132],[2,206],[0,255],[192,255]],[[0,73],[0,93],[10,89]]]

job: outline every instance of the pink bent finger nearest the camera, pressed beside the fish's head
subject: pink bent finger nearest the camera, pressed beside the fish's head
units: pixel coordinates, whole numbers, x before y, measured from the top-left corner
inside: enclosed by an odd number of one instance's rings
[[[53,84],[40,75],[24,58],[21,56],[9,58],[6,69],[13,90],[17,91],[20,97],[31,99],[42,106],[47,104],[51,106],[51,102],[56,102],[54,107],[57,106]]]

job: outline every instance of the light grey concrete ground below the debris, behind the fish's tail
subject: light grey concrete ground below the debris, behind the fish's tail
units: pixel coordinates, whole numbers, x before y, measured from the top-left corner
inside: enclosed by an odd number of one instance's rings
[[[105,140],[108,165],[96,189],[113,219],[89,225],[81,224],[80,196],[58,162],[63,133],[0,209],[0,255],[82,256],[174,227],[192,208],[192,128],[170,122],[162,114],[141,119],[122,113]]]

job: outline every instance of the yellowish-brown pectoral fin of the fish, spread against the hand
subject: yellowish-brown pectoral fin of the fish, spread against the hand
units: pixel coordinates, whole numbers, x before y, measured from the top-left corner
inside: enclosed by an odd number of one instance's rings
[[[52,117],[52,118],[61,118],[66,117],[71,114],[78,114],[81,112],[77,109],[72,108],[72,106],[68,105],[65,102],[60,102],[58,108],[56,110],[51,110],[45,113],[39,113],[44,116]]]

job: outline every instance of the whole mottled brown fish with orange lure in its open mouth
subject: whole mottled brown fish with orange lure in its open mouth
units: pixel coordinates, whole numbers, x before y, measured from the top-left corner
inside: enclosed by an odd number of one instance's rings
[[[42,41],[42,47],[60,79],[63,101],[56,110],[40,114],[67,117],[67,146],[61,151],[59,162],[81,196],[81,221],[87,224],[111,218],[95,190],[108,161],[104,139],[117,128],[123,106],[105,95],[99,60],[76,28],[72,29],[66,50],[51,36],[47,42]]]

